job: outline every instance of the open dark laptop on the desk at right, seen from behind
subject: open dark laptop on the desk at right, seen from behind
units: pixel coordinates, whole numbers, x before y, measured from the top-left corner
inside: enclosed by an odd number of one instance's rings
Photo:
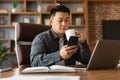
[[[86,68],[97,70],[116,68],[120,60],[120,40],[98,40]]]

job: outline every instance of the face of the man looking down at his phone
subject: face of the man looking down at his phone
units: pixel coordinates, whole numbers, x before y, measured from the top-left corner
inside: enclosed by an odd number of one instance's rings
[[[70,25],[70,15],[64,12],[56,12],[50,19],[52,29],[58,34],[63,35]]]

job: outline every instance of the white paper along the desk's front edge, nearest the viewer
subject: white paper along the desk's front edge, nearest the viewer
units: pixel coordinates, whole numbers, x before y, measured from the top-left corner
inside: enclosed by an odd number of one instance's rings
[[[80,80],[80,76],[14,76],[0,80]]]

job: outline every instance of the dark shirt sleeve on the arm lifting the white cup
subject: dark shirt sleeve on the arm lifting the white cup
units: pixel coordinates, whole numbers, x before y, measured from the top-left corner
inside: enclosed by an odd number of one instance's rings
[[[78,52],[76,55],[77,60],[82,64],[88,64],[90,57],[91,57],[91,51],[89,49],[87,42],[85,41],[84,43],[81,44],[79,43]]]

